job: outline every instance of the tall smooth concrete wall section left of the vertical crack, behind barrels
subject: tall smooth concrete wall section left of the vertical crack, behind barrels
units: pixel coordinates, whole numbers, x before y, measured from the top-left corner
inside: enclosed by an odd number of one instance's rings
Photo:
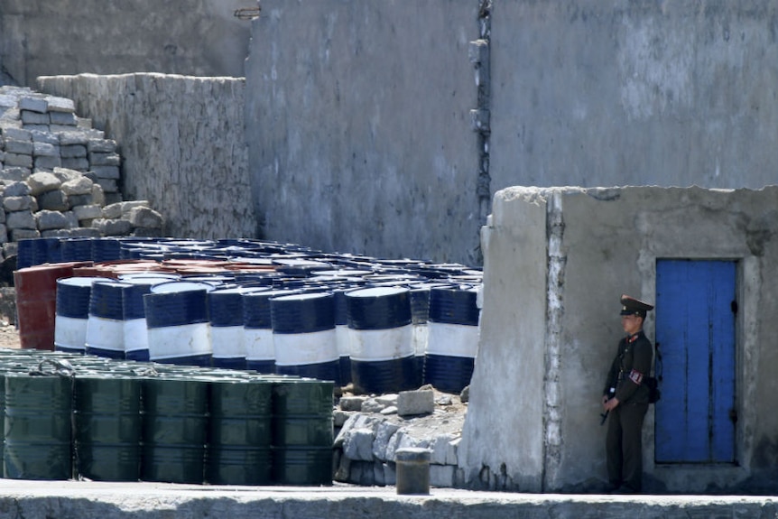
[[[477,2],[269,0],[246,62],[264,236],[384,257],[478,255]]]

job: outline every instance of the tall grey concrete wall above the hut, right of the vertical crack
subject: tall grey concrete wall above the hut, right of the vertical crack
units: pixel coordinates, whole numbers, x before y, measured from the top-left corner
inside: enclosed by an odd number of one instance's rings
[[[773,184],[776,63],[772,0],[495,2],[493,192]]]

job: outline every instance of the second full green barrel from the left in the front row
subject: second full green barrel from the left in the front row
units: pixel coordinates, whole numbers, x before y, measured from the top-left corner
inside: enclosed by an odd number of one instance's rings
[[[95,481],[137,481],[141,461],[141,385],[110,373],[76,375],[74,471]]]

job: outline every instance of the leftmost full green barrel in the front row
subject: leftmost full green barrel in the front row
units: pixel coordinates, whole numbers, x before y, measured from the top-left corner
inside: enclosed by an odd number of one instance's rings
[[[71,477],[71,399],[68,376],[5,374],[4,477]]]

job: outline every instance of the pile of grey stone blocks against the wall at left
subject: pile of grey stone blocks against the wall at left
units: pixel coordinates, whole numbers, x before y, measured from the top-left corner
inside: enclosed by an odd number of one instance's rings
[[[162,216],[120,191],[116,141],[72,100],[0,87],[0,244],[47,236],[161,236]]]

